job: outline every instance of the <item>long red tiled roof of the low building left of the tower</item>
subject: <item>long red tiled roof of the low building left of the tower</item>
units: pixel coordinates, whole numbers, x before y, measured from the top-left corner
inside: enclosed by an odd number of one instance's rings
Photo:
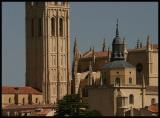
[[[32,87],[8,87],[3,86],[2,87],[2,94],[42,94],[38,90],[32,88]]]

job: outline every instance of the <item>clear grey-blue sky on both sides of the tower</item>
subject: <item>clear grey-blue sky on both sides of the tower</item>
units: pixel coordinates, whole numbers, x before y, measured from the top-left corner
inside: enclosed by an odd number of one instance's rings
[[[71,64],[75,36],[81,53],[102,50],[104,38],[111,49],[117,18],[128,48],[147,35],[158,43],[158,2],[70,2]],[[25,3],[2,2],[3,86],[25,86],[25,61]]]

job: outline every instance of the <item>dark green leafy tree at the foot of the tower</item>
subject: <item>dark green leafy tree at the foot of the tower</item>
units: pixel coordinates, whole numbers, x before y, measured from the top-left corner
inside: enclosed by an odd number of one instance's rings
[[[101,116],[96,110],[89,110],[79,94],[71,94],[59,100],[56,108],[56,116]]]

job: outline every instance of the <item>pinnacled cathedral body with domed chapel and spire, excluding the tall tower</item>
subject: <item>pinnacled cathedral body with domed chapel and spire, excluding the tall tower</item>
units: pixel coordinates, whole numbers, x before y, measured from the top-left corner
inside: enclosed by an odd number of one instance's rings
[[[127,49],[116,24],[112,51],[89,49],[82,54],[74,43],[72,93],[79,93],[91,109],[104,116],[125,116],[133,109],[158,103],[158,45],[147,36],[146,45],[137,41]],[[107,109],[107,110],[106,110]]]

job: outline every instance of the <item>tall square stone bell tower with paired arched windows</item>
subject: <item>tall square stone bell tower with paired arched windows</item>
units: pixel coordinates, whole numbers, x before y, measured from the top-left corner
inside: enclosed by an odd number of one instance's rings
[[[42,91],[44,103],[69,94],[68,2],[26,2],[26,86]]]

